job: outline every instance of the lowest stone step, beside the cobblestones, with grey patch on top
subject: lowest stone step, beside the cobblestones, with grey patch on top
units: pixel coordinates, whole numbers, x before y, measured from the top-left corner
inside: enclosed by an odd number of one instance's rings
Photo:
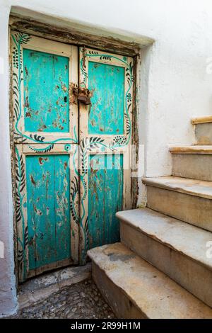
[[[119,319],[212,318],[212,310],[121,243],[88,251],[92,274]]]

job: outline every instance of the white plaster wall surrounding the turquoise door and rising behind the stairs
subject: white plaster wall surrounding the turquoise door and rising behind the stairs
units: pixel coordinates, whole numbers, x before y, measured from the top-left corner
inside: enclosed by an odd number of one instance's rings
[[[144,164],[146,176],[170,174],[167,145],[191,144],[191,118],[211,114],[212,103],[212,74],[206,73],[206,60],[212,56],[210,0],[0,0],[0,57],[5,65],[4,74],[0,74],[0,240],[6,243],[6,259],[0,259],[0,314],[16,308],[6,35],[11,6],[23,6],[67,22],[126,30],[132,38],[146,35],[155,39],[153,47],[141,52],[139,136],[145,147],[140,164]]]

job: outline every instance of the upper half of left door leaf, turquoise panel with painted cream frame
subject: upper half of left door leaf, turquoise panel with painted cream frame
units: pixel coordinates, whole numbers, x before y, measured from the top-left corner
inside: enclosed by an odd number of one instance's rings
[[[11,40],[15,142],[78,143],[78,106],[69,100],[77,47],[16,31]]]

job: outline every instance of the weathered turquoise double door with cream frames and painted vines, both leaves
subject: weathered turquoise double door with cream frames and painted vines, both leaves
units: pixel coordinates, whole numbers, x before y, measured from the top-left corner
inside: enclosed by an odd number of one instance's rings
[[[115,213],[131,202],[133,68],[130,57],[16,31],[11,62],[22,282],[119,240]],[[91,91],[92,106],[76,102],[73,85]]]

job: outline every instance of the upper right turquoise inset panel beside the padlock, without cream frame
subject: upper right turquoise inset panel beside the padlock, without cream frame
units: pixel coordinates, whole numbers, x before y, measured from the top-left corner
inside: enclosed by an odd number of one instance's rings
[[[93,91],[88,134],[123,134],[124,67],[88,62],[88,78]]]

